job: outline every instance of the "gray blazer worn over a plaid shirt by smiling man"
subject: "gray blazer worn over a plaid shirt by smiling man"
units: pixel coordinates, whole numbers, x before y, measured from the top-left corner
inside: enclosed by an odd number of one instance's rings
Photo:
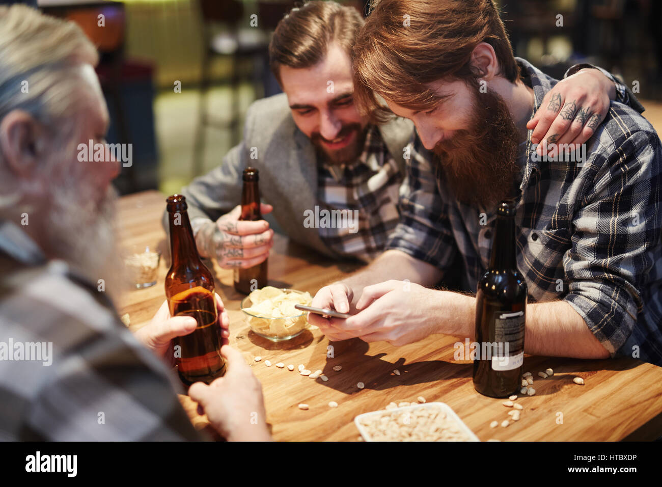
[[[414,131],[406,119],[394,119],[379,131],[404,174],[404,152]],[[253,157],[253,158],[252,158]],[[320,239],[318,229],[303,226],[304,211],[317,201],[317,160],[310,139],[295,125],[285,93],[255,101],[248,108],[244,140],[223,158],[222,164],[195,178],[181,190],[189,218],[216,221],[242,199],[242,172],[252,166],[260,171],[260,196],[273,205],[273,219],[283,233],[323,254],[340,258]],[[164,215],[167,231],[167,212]]]

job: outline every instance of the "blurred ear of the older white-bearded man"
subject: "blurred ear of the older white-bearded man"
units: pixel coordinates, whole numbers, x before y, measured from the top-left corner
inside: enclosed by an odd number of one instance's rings
[[[13,110],[0,122],[0,150],[15,176],[29,178],[39,162],[40,124],[26,111]]]

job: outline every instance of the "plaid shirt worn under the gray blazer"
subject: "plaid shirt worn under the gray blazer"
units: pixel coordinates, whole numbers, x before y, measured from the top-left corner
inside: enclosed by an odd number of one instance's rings
[[[363,152],[353,164],[318,162],[317,180],[320,209],[349,210],[358,216],[355,233],[348,227],[320,228],[322,241],[343,256],[365,262],[377,257],[399,221],[403,180],[377,127],[369,127]]]

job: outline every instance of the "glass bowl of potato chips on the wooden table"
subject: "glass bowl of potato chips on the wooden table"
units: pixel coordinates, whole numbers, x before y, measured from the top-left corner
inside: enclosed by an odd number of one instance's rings
[[[241,309],[254,333],[271,341],[283,341],[296,337],[308,327],[308,313],[294,305],[310,305],[311,302],[309,292],[266,286],[246,296]]]

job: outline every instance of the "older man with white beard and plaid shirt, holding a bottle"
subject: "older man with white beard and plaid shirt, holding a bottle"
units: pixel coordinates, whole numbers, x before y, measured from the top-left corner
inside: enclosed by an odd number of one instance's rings
[[[0,360],[0,439],[203,439],[165,360],[195,320],[170,317],[164,302],[134,336],[97,290],[99,278],[111,287],[117,268],[119,165],[77,160],[78,144],[103,143],[109,123],[96,63],[73,23],[0,7],[0,337],[52,346],[48,361]],[[220,298],[217,307],[226,341]],[[260,383],[240,352],[221,352],[226,376],[216,387],[194,384],[191,396],[226,439],[270,439]]]

